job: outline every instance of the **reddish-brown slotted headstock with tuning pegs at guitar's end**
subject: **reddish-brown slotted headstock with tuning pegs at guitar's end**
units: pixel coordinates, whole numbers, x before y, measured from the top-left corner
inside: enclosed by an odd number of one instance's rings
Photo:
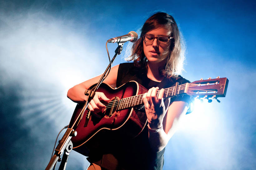
[[[207,80],[200,79],[194,81],[188,85],[186,93],[195,98],[217,98],[225,97],[229,80],[225,78],[211,79]]]

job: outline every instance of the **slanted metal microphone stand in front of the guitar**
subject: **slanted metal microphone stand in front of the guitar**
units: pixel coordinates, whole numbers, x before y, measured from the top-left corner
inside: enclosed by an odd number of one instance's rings
[[[116,59],[116,56],[121,54],[122,49],[123,49],[123,45],[124,45],[124,43],[118,43],[118,47],[115,50],[115,55],[114,55],[114,57],[111,60],[111,64]],[[99,86],[101,85],[104,77],[106,76],[106,73],[110,69],[110,66],[111,65],[109,64],[108,67],[106,68],[105,72],[101,76],[101,79],[97,83],[96,87],[93,89],[93,91],[90,90],[89,94],[88,94],[88,91],[87,91],[86,95],[88,95],[88,98],[86,100],[86,103],[84,104],[84,107],[82,108],[81,112],[77,116],[77,118],[74,121],[74,123],[72,125],[69,125],[69,128],[67,128],[67,130],[66,130],[65,134],[63,135],[62,139],[59,141],[59,144],[57,145],[57,147],[55,149],[54,155],[52,156],[50,162],[48,163],[47,167],[45,168],[46,170],[51,170],[55,166],[57,161],[58,162],[62,161],[61,165],[59,167],[59,170],[66,169],[66,163],[67,163],[67,160],[68,160],[68,156],[69,156],[69,153],[72,151],[72,148],[73,148],[73,144],[71,142],[71,138],[73,136],[77,135],[77,132],[75,131],[75,129],[78,126],[78,124],[80,123],[80,120],[81,120],[81,118],[82,118],[82,116],[83,116],[83,114],[85,112],[85,109],[88,107],[91,99],[93,99],[96,90],[99,88]],[[88,123],[88,121],[90,119],[90,116],[91,116],[91,114],[90,114],[90,112],[88,112],[86,114],[86,122],[87,123]],[[64,155],[63,155],[62,160],[61,160],[60,156],[63,153],[64,153]]]

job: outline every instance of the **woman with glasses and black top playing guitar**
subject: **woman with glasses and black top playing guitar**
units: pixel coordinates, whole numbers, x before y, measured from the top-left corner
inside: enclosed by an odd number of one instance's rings
[[[179,82],[189,82],[178,76],[184,57],[182,56],[180,33],[174,18],[159,12],[151,16],[141,29],[140,38],[133,44],[130,61],[113,67],[104,80],[112,87],[135,80],[148,90],[143,95],[148,127],[135,139],[118,144],[118,149],[89,156],[93,164],[88,168],[101,169],[162,169],[164,148],[174,134],[180,117],[188,109],[187,95],[163,100],[164,90],[156,97],[157,87],[162,80],[165,88]],[[180,67],[181,66],[181,67]],[[84,91],[98,82],[94,77],[68,90],[67,97],[74,102],[86,100]],[[100,100],[108,102],[103,93],[96,92],[88,108],[99,113],[106,108]],[[100,156],[99,156],[100,155]],[[101,159],[95,158],[101,157]],[[96,164],[100,165],[97,166]]]

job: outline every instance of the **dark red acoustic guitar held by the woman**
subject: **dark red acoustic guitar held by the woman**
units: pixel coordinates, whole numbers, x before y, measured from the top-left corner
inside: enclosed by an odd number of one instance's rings
[[[188,94],[199,99],[217,99],[225,97],[228,82],[227,78],[217,77],[182,85],[176,83],[175,86],[164,89],[164,98]],[[86,123],[86,116],[83,116],[75,129],[77,136],[71,138],[73,149],[86,156],[90,150],[97,149],[99,145],[114,145],[113,137],[130,139],[139,135],[147,124],[142,97],[148,90],[136,81],[130,81],[118,88],[102,83],[97,91],[103,92],[111,100],[108,103],[103,101],[106,109],[97,116],[90,116],[89,122]],[[69,126],[82,108],[83,104],[77,104]],[[87,112],[88,110],[85,110],[85,115]]]

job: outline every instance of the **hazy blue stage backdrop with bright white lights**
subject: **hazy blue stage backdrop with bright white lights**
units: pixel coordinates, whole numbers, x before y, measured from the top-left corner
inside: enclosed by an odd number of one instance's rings
[[[138,32],[156,11],[186,42],[183,76],[227,77],[221,103],[195,102],[165,151],[164,169],[255,169],[255,1],[0,1],[2,169],[44,169],[69,124],[72,86],[108,65],[107,39]],[[114,65],[125,62],[131,43]],[[117,44],[109,44],[114,55]],[[127,49],[128,48],[128,49]],[[72,151],[67,169],[86,169]]]

